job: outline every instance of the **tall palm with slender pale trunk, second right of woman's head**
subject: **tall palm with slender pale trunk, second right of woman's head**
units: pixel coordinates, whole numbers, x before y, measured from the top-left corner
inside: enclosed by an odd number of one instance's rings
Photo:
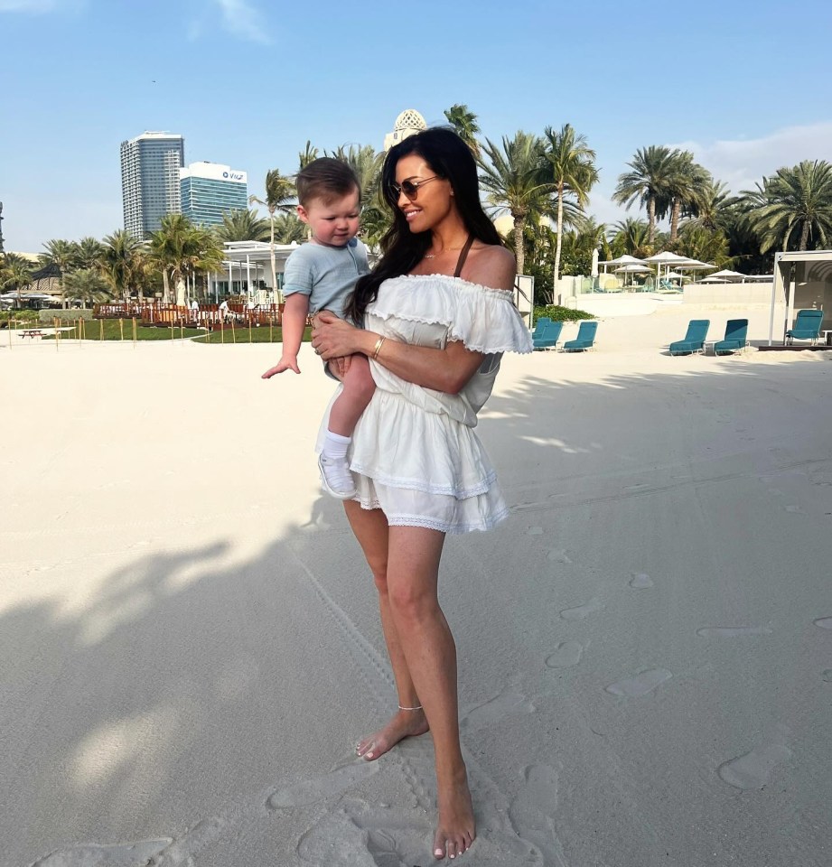
[[[595,152],[586,144],[585,135],[575,135],[575,129],[570,124],[561,127],[560,132],[547,126],[546,158],[549,164],[548,179],[552,182],[556,201],[555,233],[557,245],[555,248],[555,271],[553,287],[560,277],[560,254],[563,246],[564,233],[564,200],[569,196],[578,209],[583,211],[589,202],[589,191],[598,181],[598,170],[595,168]]]

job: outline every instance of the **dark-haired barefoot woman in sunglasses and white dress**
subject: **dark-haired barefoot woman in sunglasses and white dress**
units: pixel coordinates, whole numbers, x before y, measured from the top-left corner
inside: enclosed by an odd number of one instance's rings
[[[489,529],[508,513],[472,428],[501,353],[528,352],[531,340],[512,303],[514,257],[481,208],[463,140],[442,128],[410,136],[389,151],[382,184],[393,226],[348,308],[365,327],[323,312],[313,348],[323,359],[363,353],[376,382],[353,434],[357,495],[344,508],[379,591],[399,704],[358,753],[376,760],[431,732],[434,854],[455,858],[475,831],[439,560],[447,533]]]

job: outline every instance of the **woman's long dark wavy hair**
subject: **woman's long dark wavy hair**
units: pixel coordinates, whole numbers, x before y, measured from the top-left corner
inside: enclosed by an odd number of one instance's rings
[[[434,126],[404,141],[388,151],[381,167],[381,192],[388,208],[393,211],[393,225],[381,238],[382,256],[372,274],[360,278],[346,306],[353,322],[362,322],[367,305],[376,300],[379,286],[389,277],[409,274],[425,256],[431,244],[430,231],[411,232],[407,219],[398,207],[393,189],[398,161],[407,154],[417,154],[432,172],[451,182],[456,208],[465,228],[484,244],[501,244],[500,235],[482,210],[477,163],[471,148],[446,126]]]

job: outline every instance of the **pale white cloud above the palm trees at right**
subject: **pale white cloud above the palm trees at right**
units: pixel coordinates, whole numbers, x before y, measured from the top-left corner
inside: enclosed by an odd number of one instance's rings
[[[802,160],[832,161],[832,121],[807,126],[786,126],[762,138],[715,142],[679,142],[717,181],[738,193],[753,190],[764,176]]]

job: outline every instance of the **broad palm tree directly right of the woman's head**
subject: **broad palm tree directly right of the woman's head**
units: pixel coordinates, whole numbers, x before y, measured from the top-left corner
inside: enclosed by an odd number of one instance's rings
[[[523,233],[528,219],[539,219],[552,190],[541,177],[543,140],[519,130],[514,138],[503,136],[502,148],[489,139],[482,145],[488,162],[481,160],[480,183],[488,202],[497,211],[508,211],[514,220],[514,255],[517,272],[526,265]]]

